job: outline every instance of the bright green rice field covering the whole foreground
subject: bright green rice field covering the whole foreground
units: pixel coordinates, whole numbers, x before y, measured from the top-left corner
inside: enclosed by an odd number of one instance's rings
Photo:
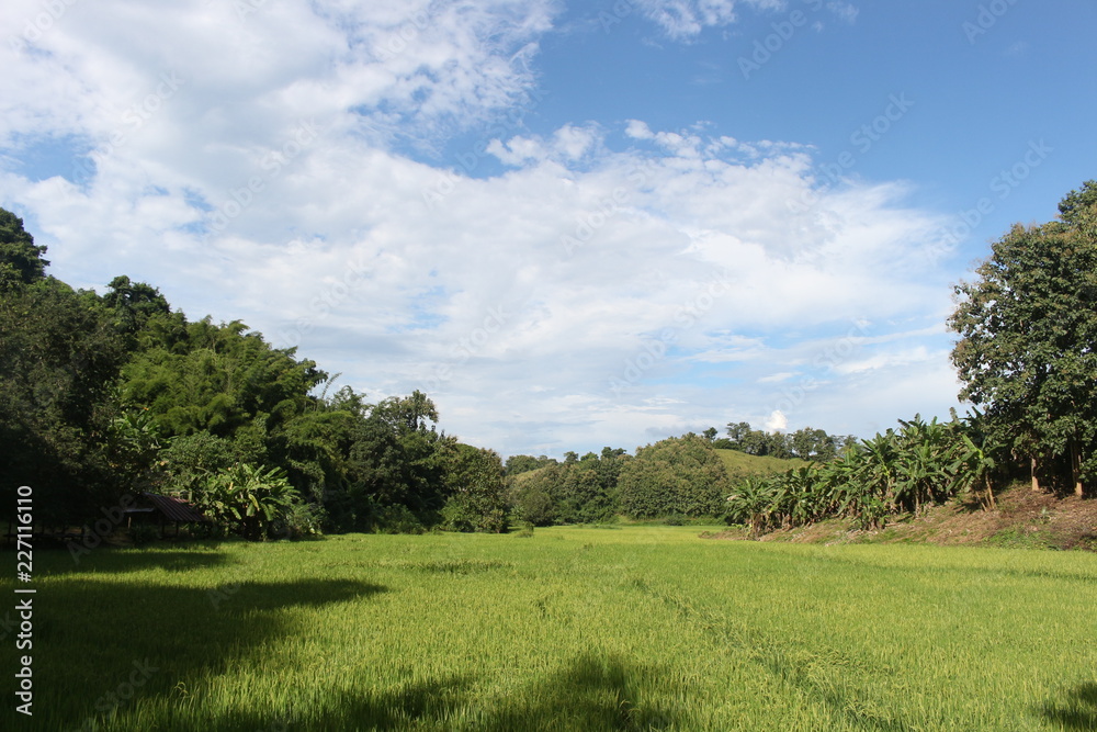
[[[1097,728],[1093,554],[697,533],[39,550],[0,728]]]

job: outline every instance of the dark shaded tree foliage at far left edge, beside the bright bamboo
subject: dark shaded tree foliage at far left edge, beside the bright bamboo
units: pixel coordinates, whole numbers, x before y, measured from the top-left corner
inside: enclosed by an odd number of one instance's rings
[[[0,293],[0,476],[4,494],[35,486],[36,517],[77,520],[128,488],[108,444],[124,358],[93,296],[53,278]],[[7,515],[14,500],[2,503]]]

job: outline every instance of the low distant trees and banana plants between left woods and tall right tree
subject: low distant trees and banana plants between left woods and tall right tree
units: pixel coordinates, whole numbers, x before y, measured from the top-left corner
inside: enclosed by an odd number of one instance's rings
[[[710,518],[744,525],[755,536],[830,518],[872,529],[958,497],[992,506],[993,486],[1017,469],[986,435],[979,413],[947,423],[916,415],[867,440],[805,428],[780,437],[783,444],[802,438],[800,454],[808,461],[789,460],[796,450],[788,450],[781,461],[746,476],[728,470],[720,450],[740,448],[740,439],[756,431],[738,423],[727,432],[726,439],[716,439],[713,429],[668,438],[637,449],[635,457],[610,448],[600,455],[568,453],[563,463],[513,457],[507,461],[513,517],[534,526],[618,516]],[[767,454],[759,452],[748,454]],[[774,471],[773,464],[792,466]]]

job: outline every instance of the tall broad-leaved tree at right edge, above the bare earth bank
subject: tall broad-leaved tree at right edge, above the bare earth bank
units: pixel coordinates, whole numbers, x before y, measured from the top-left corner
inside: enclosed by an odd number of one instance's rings
[[[1059,209],[992,245],[949,326],[960,397],[984,407],[991,438],[1028,457],[1033,489],[1060,462],[1082,495],[1097,477],[1097,182]]]

